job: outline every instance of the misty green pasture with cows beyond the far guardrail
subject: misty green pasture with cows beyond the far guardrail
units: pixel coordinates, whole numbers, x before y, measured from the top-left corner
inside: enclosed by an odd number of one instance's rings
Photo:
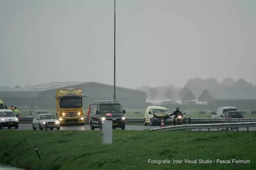
[[[27,117],[29,116],[28,111],[30,109],[27,108],[18,108],[18,110],[22,113],[22,117]],[[43,111],[48,111],[49,113],[56,115],[56,110],[55,109],[35,109],[35,110],[43,110]],[[144,118],[146,108],[140,108],[140,109],[132,109],[132,108],[127,108],[125,117],[132,117],[132,118]],[[208,111],[203,111],[206,114],[199,114],[199,111],[195,110],[189,110],[191,115],[187,115],[186,118],[210,118],[212,115],[208,113]],[[134,114],[134,112],[140,112],[140,114]],[[256,118],[255,115],[251,116],[250,111],[246,111],[247,114],[244,114],[244,118]],[[87,114],[87,109],[85,110],[85,114]]]

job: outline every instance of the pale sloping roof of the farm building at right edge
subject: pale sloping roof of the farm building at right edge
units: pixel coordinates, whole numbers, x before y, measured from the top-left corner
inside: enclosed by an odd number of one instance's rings
[[[207,89],[209,95],[214,100],[256,100],[256,91],[252,90],[217,90],[217,89]]]

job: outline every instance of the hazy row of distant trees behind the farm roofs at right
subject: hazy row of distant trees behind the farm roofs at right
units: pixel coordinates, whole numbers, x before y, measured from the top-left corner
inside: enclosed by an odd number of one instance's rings
[[[245,81],[243,78],[235,81],[233,78],[224,78],[222,82],[218,82],[215,78],[201,79],[193,78],[186,81],[183,88],[175,87],[173,85],[151,87],[141,86],[137,87],[137,90],[145,91],[148,98],[151,100],[177,100],[181,99],[188,90],[190,90],[196,98],[198,98],[205,89],[216,89],[216,90],[249,90],[256,91],[256,85],[251,82]]]

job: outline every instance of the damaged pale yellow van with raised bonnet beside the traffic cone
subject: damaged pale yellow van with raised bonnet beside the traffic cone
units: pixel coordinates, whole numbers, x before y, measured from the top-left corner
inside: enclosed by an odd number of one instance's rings
[[[151,126],[160,126],[162,118],[165,125],[172,124],[172,118],[170,117],[170,113],[167,108],[160,106],[148,106],[144,116],[144,126],[147,124],[150,124]]]

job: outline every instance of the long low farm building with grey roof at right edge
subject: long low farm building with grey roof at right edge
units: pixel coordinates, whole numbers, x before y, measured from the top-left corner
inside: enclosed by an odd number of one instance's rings
[[[256,91],[245,89],[205,89],[198,100],[208,102],[214,109],[222,106],[234,106],[247,111],[256,109]]]

